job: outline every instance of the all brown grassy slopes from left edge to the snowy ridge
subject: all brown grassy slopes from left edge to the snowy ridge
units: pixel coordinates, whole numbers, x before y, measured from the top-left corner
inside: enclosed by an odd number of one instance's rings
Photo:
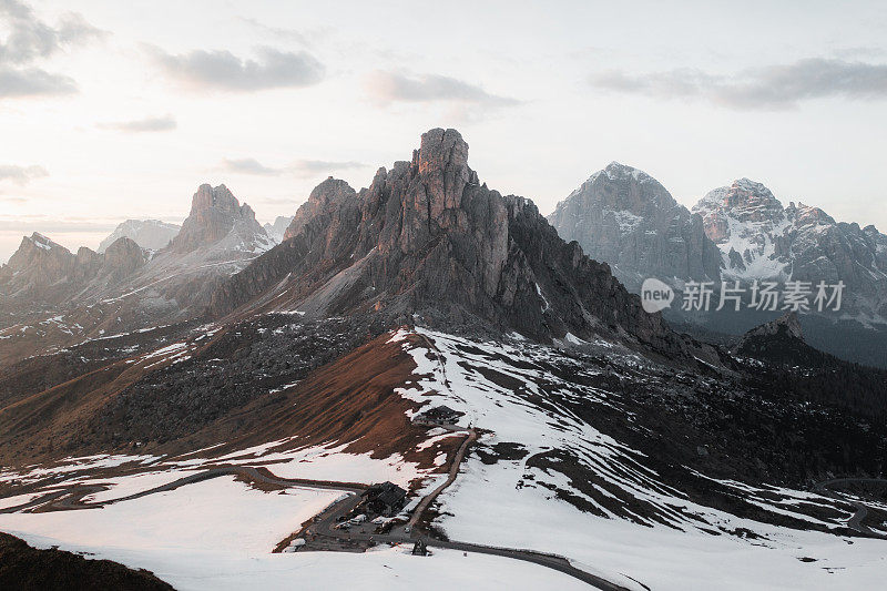
[[[405,412],[418,405],[395,389],[408,384],[416,364],[399,344],[387,343],[388,338],[381,335],[315,369],[295,387],[261,395],[208,425],[196,426],[184,437],[163,444],[145,441],[139,451],[176,455],[225,442],[212,450],[213,456],[220,456],[289,439],[285,448],[347,444],[348,452],[370,452],[374,457],[399,452],[430,468],[439,452],[455,454],[458,438],[421,451],[415,449],[427,429],[410,424]],[[208,343],[192,353],[200,356],[207,347]],[[47,390],[9,400],[0,407],[0,463],[129,451],[114,449],[106,437],[119,432],[122,438],[118,439],[129,441],[125,424],[102,422],[98,429],[95,419],[106,416],[102,411],[120,393],[163,367],[147,367],[154,363],[112,361]]]

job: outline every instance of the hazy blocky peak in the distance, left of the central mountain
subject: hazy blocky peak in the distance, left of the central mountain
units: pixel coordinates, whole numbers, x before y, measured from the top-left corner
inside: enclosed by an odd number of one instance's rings
[[[203,184],[194,193],[191,214],[169,248],[190,253],[223,240],[232,243],[232,249],[262,252],[272,245],[249,205],[241,205],[225,185]]]

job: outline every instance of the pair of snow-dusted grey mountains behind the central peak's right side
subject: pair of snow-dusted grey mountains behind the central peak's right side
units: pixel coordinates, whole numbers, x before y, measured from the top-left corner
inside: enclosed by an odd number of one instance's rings
[[[748,179],[708,192],[689,211],[650,175],[615,162],[560,202],[549,222],[611,264],[634,293],[650,277],[671,285],[679,297],[665,316],[708,339],[730,340],[782,310],[687,312],[680,306],[687,283],[711,282],[716,305],[722,282],[740,282],[747,306],[754,282],[806,282],[809,309],[799,312],[808,338],[849,360],[887,367],[887,236],[874,225],[838,223],[803,203],[784,207]],[[820,282],[843,283],[839,310],[813,305]]]

